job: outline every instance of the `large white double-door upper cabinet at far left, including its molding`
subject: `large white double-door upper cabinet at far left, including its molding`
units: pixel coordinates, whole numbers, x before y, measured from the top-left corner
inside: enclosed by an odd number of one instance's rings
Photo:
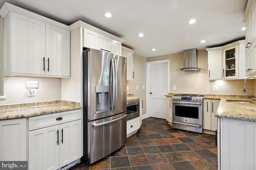
[[[4,75],[70,76],[68,25],[8,3],[0,15],[4,17]]]

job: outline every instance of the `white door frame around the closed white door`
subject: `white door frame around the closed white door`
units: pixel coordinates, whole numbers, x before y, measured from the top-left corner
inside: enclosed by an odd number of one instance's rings
[[[170,59],[167,60],[159,60],[159,61],[150,61],[146,62],[146,117],[150,117],[150,67],[152,64],[160,64],[160,63],[167,63],[168,65],[168,73],[167,73],[167,79],[168,79],[168,92],[170,92]],[[166,95],[167,95],[166,94]]]

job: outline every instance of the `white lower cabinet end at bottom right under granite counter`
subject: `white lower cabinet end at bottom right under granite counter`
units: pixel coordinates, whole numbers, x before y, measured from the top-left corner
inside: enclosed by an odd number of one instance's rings
[[[255,141],[255,121],[218,118],[218,170],[255,170]]]

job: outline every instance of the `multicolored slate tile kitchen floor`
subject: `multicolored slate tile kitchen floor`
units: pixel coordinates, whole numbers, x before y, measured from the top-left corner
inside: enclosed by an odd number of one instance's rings
[[[149,117],[127,143],[94,164],[72,170],[216,170],[215,136],[172,129],[165,119]]]

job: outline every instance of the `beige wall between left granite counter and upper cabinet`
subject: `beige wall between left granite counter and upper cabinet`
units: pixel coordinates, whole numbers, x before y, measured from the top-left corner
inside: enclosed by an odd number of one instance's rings
[[[26,81],[38,81],[36,96],[27,96]],[[61,79],[29,76],[4,76],[5,100],[0,105],[61,100]]]

